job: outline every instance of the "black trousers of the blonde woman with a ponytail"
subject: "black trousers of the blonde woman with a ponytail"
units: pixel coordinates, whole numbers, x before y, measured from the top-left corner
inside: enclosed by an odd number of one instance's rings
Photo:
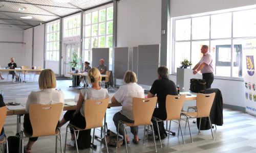
[[[63,118],[67,121],[70,121],[71,124],[75,125],[76,127],[79,127],[81,129],[86,128],[86,119],[81,115],[80,112],[76,113],[74,115],[75,110],[67,111]],[[70,129],[70,132],[74,134],[74,131]]]

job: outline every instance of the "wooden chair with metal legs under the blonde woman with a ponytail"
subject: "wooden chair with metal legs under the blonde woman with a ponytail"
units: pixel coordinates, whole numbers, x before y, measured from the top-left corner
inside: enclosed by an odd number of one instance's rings
[[[87,100],[84,101],[84,118],[86,118],[86,127],[84,129],[81,129],[79,127],[74,126],[71,123],[69,123],[67,125],[64,152],[66,152],[67,134],[68,134],[69,127],[71,129],[73,129],[74,134],[75,134],[76,131],[83,131],[83,130],[93,129],[93,142],[92,142],[92,144],[93,144],[93,146],[96,146],[94,144],[95,128],[103,127],[102,122],[103,122],[103,119],[104,119],[104,116],[105,116],[105,113],[106,113],[106,109],[108,108],[108,105],[109,105],[109,100],[110,100],[110,98],[105,98],[105,99],[102,99],[102,100],[87,99]],[[106,144],[105,130],[103,130],[103,132],[104,132],[106,150],[109,152],[108,145]],[[75,144],[76,144],[76,151],[78,152],[76,134],[75,134]]]

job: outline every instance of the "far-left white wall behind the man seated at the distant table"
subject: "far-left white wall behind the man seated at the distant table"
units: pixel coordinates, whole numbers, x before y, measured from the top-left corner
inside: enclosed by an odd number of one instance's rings
[[[0,20],[0,23],[7,23]],[[15,58],[15,63],[20,66],[23,62],[23,29],[15,25],[0,24],[0,65],[6,67]],[[11,27],[10,27],[11,26]]]

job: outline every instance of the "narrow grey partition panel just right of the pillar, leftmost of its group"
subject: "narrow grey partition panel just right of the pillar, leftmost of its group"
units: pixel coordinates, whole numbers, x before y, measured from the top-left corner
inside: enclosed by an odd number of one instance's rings
[[[115,79],[123,79],[125,72],[129,68],[129,48],[115,47],[114,56],[115,56],[114,77]]]

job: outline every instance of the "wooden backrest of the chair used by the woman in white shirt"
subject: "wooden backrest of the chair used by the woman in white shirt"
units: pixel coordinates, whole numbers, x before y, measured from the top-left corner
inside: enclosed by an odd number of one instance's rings
[[[157,104],[157,97],[133,98],[134,126],[151,124],[151,118]]]

